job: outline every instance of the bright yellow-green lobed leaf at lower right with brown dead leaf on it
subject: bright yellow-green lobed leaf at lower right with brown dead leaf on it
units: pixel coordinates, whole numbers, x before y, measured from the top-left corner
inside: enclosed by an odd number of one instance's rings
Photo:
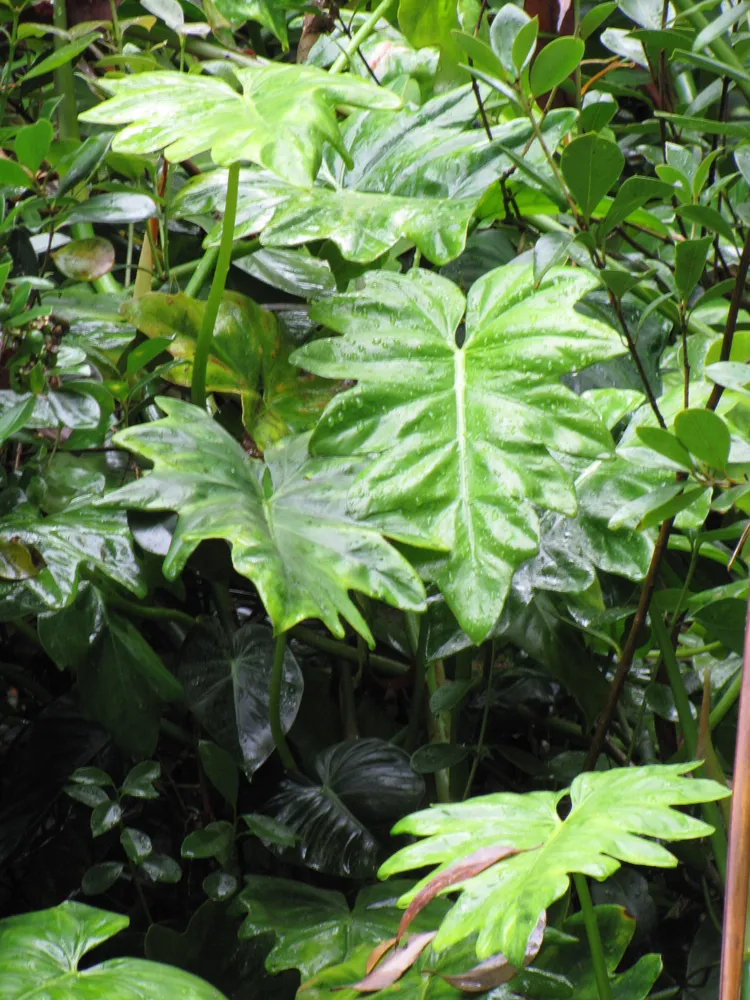
[[[560,819],[559,806],[567,790],[502,792],[415,813],[397,823],[394,833],[427,839],[398,851],[380,875],[434,864],[439,872],[497,843],[499,837],[521,849],[522,853],[459,884],[461,898],[433,944],[442,950],[477,934],[480,959],[501,951],[520,966],[529,935],[541,913],[567,890],[569,873],[603,880],[623,861],[673,867],[676,858],[646,837],[689,840],[712,832],[708,824],[672,808],[729,794],[717,782],[681,777],[697,766],[653,765],[581,774],[570,789],[571,808],[565,820]]]

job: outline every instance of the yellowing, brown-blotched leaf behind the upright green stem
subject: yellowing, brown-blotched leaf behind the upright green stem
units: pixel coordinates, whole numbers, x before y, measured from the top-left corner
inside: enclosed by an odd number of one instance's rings
[[[164,373],[168,382],[190,386],[193,356],[206,305],[180,292],[149,292],[121,309],[147,337],[169,340],[165,349],[181,364]],[[335,383],[300,377],[289,364],[293,350],[273,313],[238,292],[225,292],[206,370],[208,392],[242,399],[246,430],[262,449],[290,432],[312,430]]]

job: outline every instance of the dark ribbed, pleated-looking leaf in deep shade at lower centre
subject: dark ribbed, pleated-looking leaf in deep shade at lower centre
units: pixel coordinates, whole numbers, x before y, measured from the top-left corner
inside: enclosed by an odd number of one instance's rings
[[[265,807],[297,837],[285,856],[331,875],[371,876],[382,856],[373,828],[421,801],[421,777],[403,750],[379,739],[337,743],[318,754],[315,770],[319,783],[288,777]]]

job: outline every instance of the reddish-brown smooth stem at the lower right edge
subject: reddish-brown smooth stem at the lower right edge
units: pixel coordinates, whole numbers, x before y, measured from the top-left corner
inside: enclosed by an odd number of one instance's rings
[[[750,602],[745,622],[742,690],[732,775],[724,935],[721,942],[719,1000],[737,1000],[743,980],[745,922],[750,879]]]

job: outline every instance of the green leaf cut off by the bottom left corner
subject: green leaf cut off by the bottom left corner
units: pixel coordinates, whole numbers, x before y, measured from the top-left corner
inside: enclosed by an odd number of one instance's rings
[[[79,971],[84,955],[129,923],[70,901],[0,921],[0,1000],[222,1000],[196,976],[140,958],[110,958]]]

